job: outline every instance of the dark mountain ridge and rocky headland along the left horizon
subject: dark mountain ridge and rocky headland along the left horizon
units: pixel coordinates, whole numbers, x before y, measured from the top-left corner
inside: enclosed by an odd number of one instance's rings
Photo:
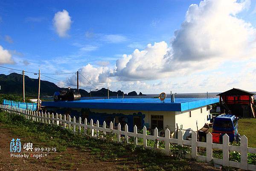
[[[58,87],[56,84],[49,82],[49,81],[43,81],[41,80],[41,88],[40,88],[40,95],[41,96],[53,96],[55,91],[64,90],[66,88]],[[22,75],[17,73],[11,73],[9,75],[0,74],[0,86],[1,90],[0,93],[12,93],[17,95],[22,95],[22,89],[23,89],[23,82],[22,82]],[[75,90],[75,89],[73,89]],[[79,89],[79,92],[81,93],[82,97],[90,97],[90,92],[87,92],[86,90]],[[137,93],[135,95],[133,92],[130,92],[125,94],[121,90],[118,90],[117,92],[109,90],[109,96],[137,96]],[[37,96],[38,95],[38,79],[29,78],[25,75],[25,96]],[[143,94],[140,92],[140,96]],[[92,91],[91,96],[108,96],[108,89],[102,88],[97,91]]]

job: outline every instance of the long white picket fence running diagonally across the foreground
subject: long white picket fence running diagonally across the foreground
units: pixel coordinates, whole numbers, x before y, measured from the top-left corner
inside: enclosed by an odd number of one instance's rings
[[[166,155],[172,154],[170,151],[170,143],[177,144],[180,146],[189,145],[191,146],[191,154],[186,155],[186,157],[198,159],[200,161],[210,162],[213,161],[216,164],[223,165],[223,166],[231,166],[235,168],[241,168],[244,170],[252,170],[256,171],[256,165],[248,164],[247,154],[256,154],[256,148],[250,148],[247,145],[247,137],[244,135],[241,137],[241,144],[240,146],[230,145],[229,143],[229,136],[225,134],[223,136],[223,144],[215,144],[212,143],[212,134],[207,134],[207,142],[198,142],[197,140],[197,133],[192,132],[192,140],[184,140],[183,139],[183,132],[180,130],[178,131],[178,138],[170,138],[170,130],[165,130],[165,137],[158,136],[158,130],[155,128],[154,135],[147,135],[147,128],[144,126],[143,134],[137,133],[137,126],[134,126],[134,132],[128,132],[128,125],[125,125],[125,130],[121,130],[121,125],[118,124],[117,130],[113,129],[113,123],[110,122],[109,128],[106,128],[106,122],[103,122],[103,127],[99,126],[99,121],[96,122],[96,125],[93,125],[93,120],[90,120],[90,125],[87,124],[87,119],[84,119],[84,123],[81,123],[81,117],[79,117],[78,122],[76,122],[76,117],[73,117],[73,121],[71,121],[70,116],[66,118],[66,115],[62,116],[61,114],[50,115],[50,113],[41,113],[35,112],[32,110],[25,110],[19,109],[7,105],[0,104],[0,108],[5,110],[9,113],[22,115],[26,119],[32,119],[35,122],[42,122],[47,124],[56,124],[60,125],[63,128],[67,128],[72,130],[74,133],[81,132],[81,128],[84,130],[84,134],[86,134],[87,128],[90,130],[90,135],[93,138],[99,138],[99,131],[105,133],[115,133],[117,135],[117,142],[120,142],[121,135],[125,136],[125,141],[129,143],[128,138],[134,137],[134,144],[138,145],[138,138],[143,139],[143,146],[145,148],[159,148],[158,142],[164,141],[165,148],[161,149]],[[50,117],[51,116],[51,117]],[[147,140],[154,140],[157,141],[157,145],[155,147],[151,147],[147,145]],[[206,156],[198,155],[198,147],[206,148]],[[212,157],[212,149],[220,149],[223,151],[222,159],[216,159]],[[234,162],[230,161],[230,151],[239,151],[241,154],[241,162]]]

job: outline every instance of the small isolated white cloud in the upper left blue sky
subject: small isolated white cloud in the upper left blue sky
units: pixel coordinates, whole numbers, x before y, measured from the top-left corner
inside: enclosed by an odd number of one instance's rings
[[[59,11],[55,13],[53,18],[53,25],[60,37],[67,36],[67,31],[70,29],[71,23],[71,17],[65,9],[62,12]]]

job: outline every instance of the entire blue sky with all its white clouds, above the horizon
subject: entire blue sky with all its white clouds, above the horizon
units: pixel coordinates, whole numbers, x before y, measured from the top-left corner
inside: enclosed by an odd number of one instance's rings
[[[256,2],[200,2],[2,0],[0,65],[79,70],[99,88],[125,92],[255,91]],[[75,75],[52,78],[76,83]]]

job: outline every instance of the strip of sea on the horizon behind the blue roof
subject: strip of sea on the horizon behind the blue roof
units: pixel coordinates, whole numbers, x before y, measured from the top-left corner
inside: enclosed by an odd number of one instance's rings
[[[177,93],[175,94],[175,98],[214,98],[218,97],[216,96],[219,93]],[[159,94],[147,94],[146,96],[125,96],[126,99],[137,99],[137,98],[154,98],[158,97]],[[170,98],[171,94],[166,94],[166,98]],[[91,97],[91,99],[107,99],[108,97],[102,96],[102,97]],[[118,97],[119,99],[122,98],[122,96]],[[90,99],[90,97],[82,97],[81,99]],[[117,96],[110,96],[109,99],[117,99]]]

